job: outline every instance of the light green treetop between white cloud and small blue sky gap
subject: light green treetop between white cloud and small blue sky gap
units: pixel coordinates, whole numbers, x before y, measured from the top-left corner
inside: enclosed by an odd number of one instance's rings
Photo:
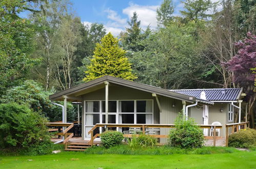
[[[172,20],[172,14],[174,12],[174,7],[171,0],[164,0],[160,8],[156,10],[157,22],[161,25],[168,25],[170,20]]]

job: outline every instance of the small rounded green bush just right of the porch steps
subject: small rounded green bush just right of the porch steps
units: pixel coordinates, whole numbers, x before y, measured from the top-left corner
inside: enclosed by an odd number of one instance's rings
[[[123,134],[117,131],[105,131],[101,134],[101,141],[104,147],[109,148],[122,143]]]

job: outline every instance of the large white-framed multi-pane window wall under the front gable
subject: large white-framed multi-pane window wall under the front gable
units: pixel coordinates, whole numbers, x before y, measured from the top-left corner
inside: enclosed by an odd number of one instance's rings
[[[85,137],[90,138],[88,131],[96,123],[106,123],[106,102],[85,101]],[[108,123],[119,124],[152,124],[153,123],[153,100],[109,100],[108,101]],[[116,130],[113,128],[111,130]],[[129,128],[119,128],[120,132]],[[94,130],[102,133],[104,128]]]

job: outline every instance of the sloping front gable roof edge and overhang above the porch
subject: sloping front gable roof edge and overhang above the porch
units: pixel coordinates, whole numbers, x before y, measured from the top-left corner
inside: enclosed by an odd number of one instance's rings
[[[155,94],[161,95],[161,96],[184,100],[184,101],[190,102],[190,103],[199,101],[204,104],[213,104],[213,102],[208,101],[208,100],[196,100],[196,98],[193,96],[176,93],[176,92],[172,92],[169,90],[157,88],[157,87],[150,86],[150,85],[145,85],[145,84],[134,82],[134,81],[124,80],[124,79],[109,76],[109,75],[97,78],[95,80],[92,80],[92,81],[89,81],[86,83],[83,83],[82,85],[78,85],[78,86],[72,87],[70,89],[52,94],[49,96],[49,99],[50,100],[63,100],[63,98],[67,98],[68,101],[81,101],[82,95],[105,88],[105,84],[104,84],[105,81],[108,81],[110,83],[110,85],[125,86],[128,88],[133,88],[133,89],[137,89],[137,90],[141,90],[141,91],[145,91],[145,92],[149,92],[149,93],[155,93]]]

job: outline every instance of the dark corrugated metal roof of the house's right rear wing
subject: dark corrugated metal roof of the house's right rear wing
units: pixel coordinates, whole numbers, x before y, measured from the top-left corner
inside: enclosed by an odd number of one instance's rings
[[[226,88],[226,89],[182,89],[182,90],[170,90],[180,94],[185,94],[200,98],[201,92],[204,91],[206,100],[209,101],[237,101],[242,93],[243,89],[239,88]]]

